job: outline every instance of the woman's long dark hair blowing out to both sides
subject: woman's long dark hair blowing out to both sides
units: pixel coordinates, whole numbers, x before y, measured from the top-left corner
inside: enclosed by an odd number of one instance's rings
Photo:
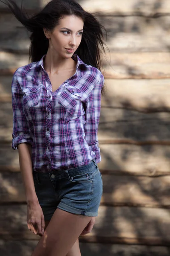
[[[0,0],[3,2],[2,0]],[[5,3],[17,20],[25,26],[30,35],[29,61],[39,61],[48,51],[49,41],[45,37],[43,28],[52,31],[64,15],[75,15],[82,18],[84,22],[82,40],[76,50],[85,64],[90,64],[104,71],[101,55],[105,53],[104,31],[106,29],[89,12],[86,12],[74,0],[52,0],[40,12],[28,17],[12,0],[5,0]],[[107,34],[107,32],[106,32]],[[40,43],[41,42],[41,43]],[[105,94],[105,86],[102,88],[102,94]]]

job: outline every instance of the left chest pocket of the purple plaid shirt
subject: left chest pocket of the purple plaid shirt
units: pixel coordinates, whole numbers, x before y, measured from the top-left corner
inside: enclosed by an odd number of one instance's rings
[[[23,106],[31,108],[37,106],[40,101],[41,85],[23,88]]]

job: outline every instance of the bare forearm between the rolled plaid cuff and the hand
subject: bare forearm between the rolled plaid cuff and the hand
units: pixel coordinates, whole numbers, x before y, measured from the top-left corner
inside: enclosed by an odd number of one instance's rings
[[[35,192],[34,180],[32,175],[31,150],[32,146],[28,143],[20,143],[18,145],[20,171],[26,193],[26,203],[36,204],[38,202],[38,198]]]

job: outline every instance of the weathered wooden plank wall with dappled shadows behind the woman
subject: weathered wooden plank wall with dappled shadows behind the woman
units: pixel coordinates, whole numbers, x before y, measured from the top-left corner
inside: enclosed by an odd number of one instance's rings
[[[20,0],[15,0],[21,3]],[[82,256],[170,255],[170,1],[78,1],[108,31],[99,146],[104,191]],[[47,1],[24,0],[28,13]],[[30,256],[11,79],[28,63],[28,32],[0,3],[0,255]]]

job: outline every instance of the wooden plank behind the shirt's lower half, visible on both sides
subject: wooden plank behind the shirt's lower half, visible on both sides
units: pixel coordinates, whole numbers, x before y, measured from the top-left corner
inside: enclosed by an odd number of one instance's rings
[[[11,102],[0,103],[0,141],[11,143],[13,113]],[[168,144],[170,113],[140,113],[126,109],[102,108],[99,120],[100,143]]]

